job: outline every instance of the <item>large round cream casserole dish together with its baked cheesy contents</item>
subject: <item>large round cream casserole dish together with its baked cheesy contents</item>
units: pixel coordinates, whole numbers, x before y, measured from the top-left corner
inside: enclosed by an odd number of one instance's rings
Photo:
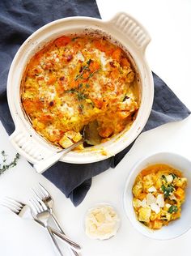
[[[11,142],[19,153],[36,163],[77,142],[92,121],[100,144],[82,144],[61,160],[96,162],[129,146],[151,113],[149,41],[124,13],[109,21],[58,19],[34,32],[16,53],[7,81]]]

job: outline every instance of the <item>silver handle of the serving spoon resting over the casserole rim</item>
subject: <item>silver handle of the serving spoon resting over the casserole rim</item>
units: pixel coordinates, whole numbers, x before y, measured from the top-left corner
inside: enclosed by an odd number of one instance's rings
[[[57,163],[57,161],[66,153],[70,152],[74,147],[79,146],[79,144],[83,143],[83,139],[80,139],[77,143],[74,143],[70,147],[63,149],[62,151],[58,151],[54,153],[52,156],[49,156],[46,159],[40,160],[36,164],[33,165],[34,169],[36,169],[37,173],[44,173],[45,170],[49,169],[53,164]]]

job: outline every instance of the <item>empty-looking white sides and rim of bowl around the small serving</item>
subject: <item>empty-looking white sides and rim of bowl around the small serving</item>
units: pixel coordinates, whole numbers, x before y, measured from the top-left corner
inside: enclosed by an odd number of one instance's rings
[[[160,163],[168,164],[172,166],[172,168],[180,170],[183,173],[184,177],[187,177],[188,186],[186,188],[185,203],[183,203],[181,207],[182,211],[180,219],[170,222],[168,226],[164,226],[159,230],[151,230],[149,228],[146,228],[146,226],[144,226],[137,220],[132,204],[132,188],[134,186],[135,178],[138,176],[138,173],[142,171],[142,169],[145,169],[151,164]],[[146,237],[159,240],[168,240],[180,237],[180,235],[186,233],[189,228],[191,228],[191,162],[184,156],[180,156],[171,152],[159,152],[142,159],[134,165],[129,177],[127,178],[127,181],[125,183],[125,191],[123,194],[123,202],[125,214],[129,218],[130,222],[133,224],[134,228],[136,228]]]

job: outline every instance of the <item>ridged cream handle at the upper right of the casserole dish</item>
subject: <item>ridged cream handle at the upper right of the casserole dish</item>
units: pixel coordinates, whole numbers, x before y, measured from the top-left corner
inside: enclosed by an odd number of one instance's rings
[[[128,37],[142,54],[145,53],[146,46],[151,41],[151,36],[138,20],[120,12],[108,23],[112,24],[112,27],[120,31],[125,37]]]

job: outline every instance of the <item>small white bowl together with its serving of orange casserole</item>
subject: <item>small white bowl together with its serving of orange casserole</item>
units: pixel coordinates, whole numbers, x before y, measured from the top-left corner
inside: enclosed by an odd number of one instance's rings
[[[134,164],[125,183],[125,214],[146,237],[168,240],[191,228],[190,161],[158,152]]]

